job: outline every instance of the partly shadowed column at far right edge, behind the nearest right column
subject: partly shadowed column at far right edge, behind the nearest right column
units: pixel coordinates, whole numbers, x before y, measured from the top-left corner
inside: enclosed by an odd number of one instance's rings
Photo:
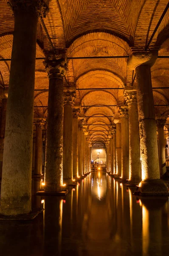
[[[156,122],[158,127],[158,145],[159,145],[158,157],[159,157],[160,177],[163,178],[163,175],[166,173],[166,154],[165,154],[165,140],[164,140],[164,125],[166,123],[166,117],[162,117],[162,116],[157,117]]]

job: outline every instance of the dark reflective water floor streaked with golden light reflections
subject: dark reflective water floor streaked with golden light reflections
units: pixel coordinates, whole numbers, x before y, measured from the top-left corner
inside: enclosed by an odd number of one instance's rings
[[[0,256],[169,255],[169,199],[138,198],[92,172],[66,198],[36,196],[33,221],[0,222]]]

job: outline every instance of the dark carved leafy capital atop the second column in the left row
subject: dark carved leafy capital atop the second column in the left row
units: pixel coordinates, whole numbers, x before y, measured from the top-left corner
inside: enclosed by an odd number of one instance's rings
[[[67,71],[67,56],[65,49],[56,49],[56,53],[45,51],[43,61],[49,79],[63,79]]]

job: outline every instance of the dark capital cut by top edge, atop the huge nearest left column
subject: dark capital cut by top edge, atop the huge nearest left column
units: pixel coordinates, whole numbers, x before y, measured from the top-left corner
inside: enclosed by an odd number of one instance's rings
[[[9,0],[8,5],[14,15],[30,13],[37,15],[37,17],[46,17],[49,12],[49,0]]]

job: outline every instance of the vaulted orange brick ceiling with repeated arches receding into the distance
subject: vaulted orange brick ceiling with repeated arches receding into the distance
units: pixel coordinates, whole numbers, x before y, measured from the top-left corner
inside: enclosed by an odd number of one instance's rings
[[[143,50],[157,25],[168,0],[50,0],[49,13],[44,18],[51,41],[56,49],[67,49],[68,57],[130,56]],[[0,58],[10,59],[14,32],[14,15],[7,0],[0,3]],[[166,12],[149,49],[158,55],[169,55],[169,10]],[[51,50],[42,23],[37,27],[36,57],[45,57]],[[26,49],[25,49],[26,50]],[[86,117],[93,142],[105,143],[116,106],[124,104],[123,88],[131,85],[133,70],[128,58],[93,58],[68,60],[64,87],[75,87],[75,105]],[[8,87],[11,61],[0,61],[0,85]],[[169,87],[169,59],[157,59],[152,69],[152,87]],[[135,83],[133,84],[135,85]],[[82,89],[92,90],[82,90]],[[103,88],[103,90],[95,90]],[[36,60],[34,105],[35,118],[46,118],[48,105],[48,76],[43,60]],[[38,91],[47,89],[45,91]],[[169,89],[153,89],[155,105],[168,105]],[[84,105],[100,107],[83,107]],[[116,106],[107,106],[116,105]],[[167,111],[156,107],[155,113]],[[82,116],[81,116],[82,117]],[[169,122],[169,120],[167,120]],[[94,125],[95,124],[95,125]],[[97,124],[97,125],[96,125]],[[106,125],[105,125],[106,124]],[[94,134],[100,139],[94,139]],[[96,137],[96,136],[95,136]],[[106,137],[107,138],[107,137]]]

